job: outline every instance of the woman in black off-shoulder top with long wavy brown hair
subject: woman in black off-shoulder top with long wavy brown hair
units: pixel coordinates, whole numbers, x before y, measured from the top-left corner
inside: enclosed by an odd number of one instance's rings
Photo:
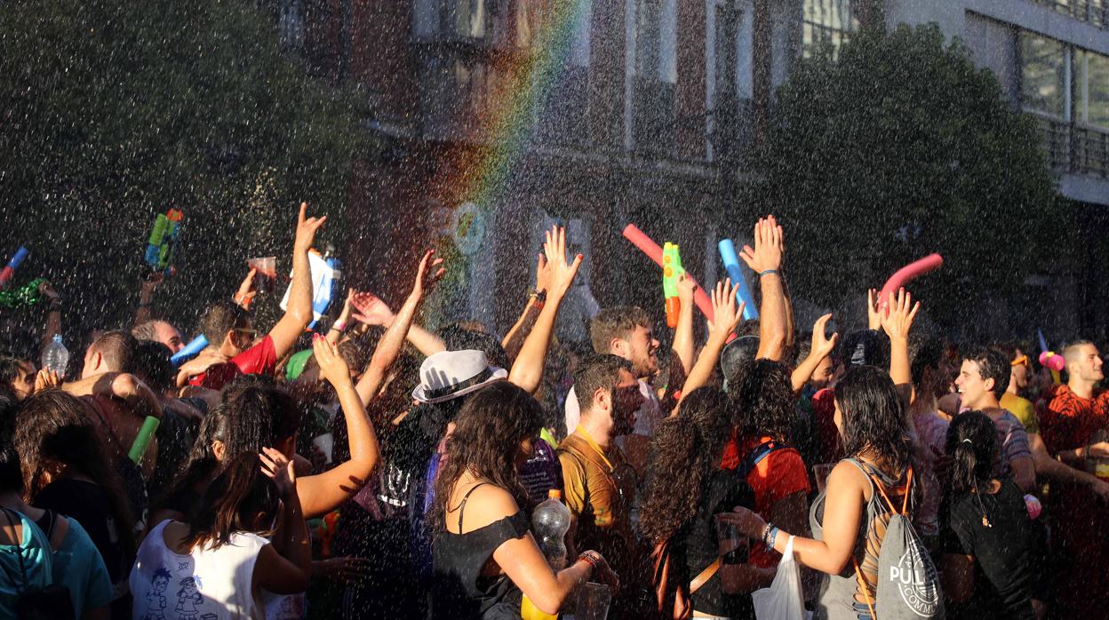
[[[439,466],[428,522],[433,540],[433,618],[520,618],[521,594],[558,613],[591,577],[614,581],[586,551],[553,571],[529,531],[519,468],[532,455],[542,409],[526,390],[495,382],[474,393],[455,419]]]

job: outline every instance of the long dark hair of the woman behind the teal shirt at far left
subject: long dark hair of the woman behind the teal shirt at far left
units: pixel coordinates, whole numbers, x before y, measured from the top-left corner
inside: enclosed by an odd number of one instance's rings
[[[84,405],[60,388],[32,394],[20,404],[14,446],[23,472],[28,504],[42,490],[48,461],[57,461],[87,476],[108,496],[111,517],[128,558],[134,557],[134,518],[112,468],[103,440],[85,415]]]

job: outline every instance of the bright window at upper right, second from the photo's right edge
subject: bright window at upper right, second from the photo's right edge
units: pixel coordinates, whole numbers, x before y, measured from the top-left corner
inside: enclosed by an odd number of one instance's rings
[[[1020,105],[1069,120],[1069,65],[1062,43],[1032,32],[1020,33]]]

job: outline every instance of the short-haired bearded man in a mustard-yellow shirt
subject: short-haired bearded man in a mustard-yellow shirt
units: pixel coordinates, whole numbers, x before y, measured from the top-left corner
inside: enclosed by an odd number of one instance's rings
[[[628,586],[622,593],[635,597],[647,555],[638,548],[631,524],[635,472],[614,439],[631,433],[643,395],[632,364],[608,354],[582,363],[574,387],[588,400],[573,433],[558,448],[570,509],[569,557],[576,557],[576,548],[596,549]],[[613,601],[611,609],[631,609],[630,603]]]

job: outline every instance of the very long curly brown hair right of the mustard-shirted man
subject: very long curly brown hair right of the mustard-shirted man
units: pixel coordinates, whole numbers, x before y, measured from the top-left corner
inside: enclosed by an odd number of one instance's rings
[[[732,433],[723,392],[701,387],[662,420],[651,441],[653,481],[639,529],[652,543],[667,540],[696,516],[701,496]]]

